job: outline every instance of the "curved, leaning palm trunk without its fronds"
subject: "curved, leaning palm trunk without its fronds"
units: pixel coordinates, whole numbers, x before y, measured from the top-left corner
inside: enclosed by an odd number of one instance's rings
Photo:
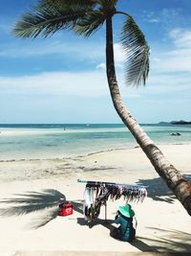
[[[163,178],[169,189],[180,200],[183,207],[191,216],[191,183],[183,178],[180,172],[169,163],[163,153],[148,137],[133,118],[131,113],[123,105],[117,85],[117,76],[114,61],[113,26],[112,16],[106,19],[106,67],[107,79],[113,104],[122,122],[136,138],[138,145],[145,152],[159,176]]]

